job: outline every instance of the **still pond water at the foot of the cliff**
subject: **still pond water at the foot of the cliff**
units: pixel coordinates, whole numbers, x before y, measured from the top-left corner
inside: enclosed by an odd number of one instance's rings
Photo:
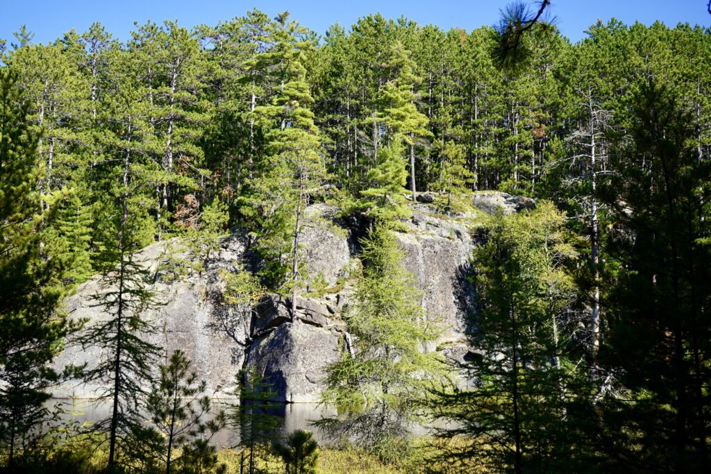
[[[234,404],[235,400],[215,399],[213,409],[226,409],[229,404]],[[108,418],[111,413],[111,404],[108,402],[97,403],[90,399],[52,399],[49,402],[50,409],[61,408],[61,422],[71,423],[77,426],[90,426],[96,421]],[[273,404],[266,409],[267,414],[279,416],[282,419],[282,426],[275,433],[275,437],[284,437],[296,429],[307,429],[314,432],[314,438],[319,444],[328,444],[328,438],[319,433],[311,421],[321,418],[321,416],[333,416],[334,409],[324,406],[306,403],[293,404]],[[240,432],[237,429],[227,428],[217,433],[213,438],[215,446],[237,446],[240,443]]]

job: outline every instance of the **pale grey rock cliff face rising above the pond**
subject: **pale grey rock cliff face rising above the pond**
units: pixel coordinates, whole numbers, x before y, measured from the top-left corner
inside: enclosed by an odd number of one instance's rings
[[[530,205],[503,193],[476,195],[474,203],[489,213],[498,206],[506,213]],[[413,203],[412,208],[407,232],[398,234],[404,264],[412,271],[427,317],[445,329],[439,349],[461,358],[468,350],[466,311],[475,296],[465,276],[477,243],[472,234],[476,212],[447,217],[429,203]],[[256,368],[272,383],[279,401],[316,402],[324,367],[348,350],[341,313],[352,290],[348,269],[358,258],[355,236],[362,230],[338,222],[335,210],[326,205],[314,205],[309,212],[316,225],[304,228],[302,252],[312,283],[325,281],[328,289],[319,298],[298,298],[294,318],[291,302],[275,294],[265,295],[251,311],[237,311],[224,302],[220,270],[245,271],[240,266],[245,246],[237,235],[224,239],[219,254],[200,275],[179,279],[161,275],[161,260],[170,245],[166,242],[146,247],[138,255],[154,274],[153,290],[162,303],[144,315],[159,328],[151,335],[152,342],[166,348],[166,353],[176,348],[186,352],[210,393],[230,396],[237,372]],[[105,317],[92,300],[100,291],[100,281],[90,279],[68,298],[68,311],[75,318]],[[96,348],[70,346],[56,365],[90,365],[97,357]],[[92,398],[99,393],[100,387],[68,383],[59,387],[57,395]]]

